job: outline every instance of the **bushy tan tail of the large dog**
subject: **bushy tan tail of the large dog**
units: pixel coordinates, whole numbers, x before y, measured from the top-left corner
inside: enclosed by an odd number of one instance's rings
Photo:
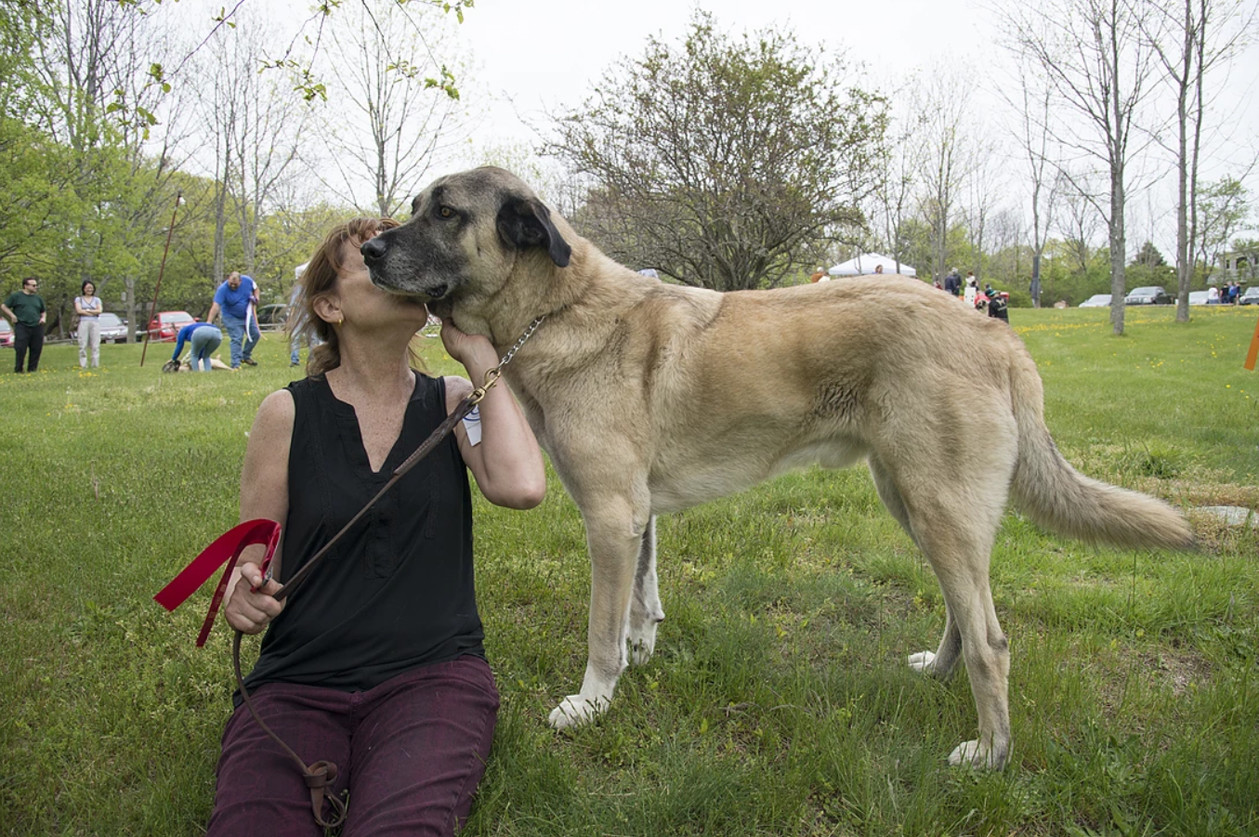
[[[1063,457],[1045,427],[1044,389],[1031,357],[1010,370],[1019,425],[1019,461],[1011,493],[1036,524],[1060,535],[1114,546],[1187,549],[1185,517],[1161,500],[1085,477]]]

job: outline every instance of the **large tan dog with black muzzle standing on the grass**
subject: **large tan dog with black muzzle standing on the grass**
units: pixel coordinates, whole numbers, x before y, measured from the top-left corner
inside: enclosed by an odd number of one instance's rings
[[[413,218],[363,245],[373,281],[419,295],[506,350],[505,378],[585,520],[592,592],[582,690],[554,726],[588,721],[663,619],[655,516],[789,468],[865,461],[944,592],[939,648],[966,661],[980,734],[949,761],[1010,753],[1010,654],[988,555],[1010,496],[1064,535],[1183,548],[1167,505],[1080,476],[1042,420],[1040,376],[1010,327],[905,277],[716,293],[612,262],[501,169],[442,177]],[[964,361],[963,361],[964,357]]]

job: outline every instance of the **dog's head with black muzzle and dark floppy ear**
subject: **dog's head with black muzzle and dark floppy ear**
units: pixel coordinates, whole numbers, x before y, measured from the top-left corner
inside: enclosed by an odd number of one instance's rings
[[[436,180],[412,201],[409,222],[363,244],[378,287],[421,297],[439,313],[494,295],[521,258],[567,267],[570,253],[533,190],[490,166]]]

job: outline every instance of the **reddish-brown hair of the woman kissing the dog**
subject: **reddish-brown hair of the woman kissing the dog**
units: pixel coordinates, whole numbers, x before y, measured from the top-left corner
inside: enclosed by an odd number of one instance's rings
[[[310,359],[306,361],[307,375],[322,375],[341,365],[341,346],[336,329],[315,313],[315,301],[336,287],[336,276],[344,264],[341,250],[346,244],[360,247],[376,233],[397,225],[398,222],[392,218],[355,218],[337,224],[307,262],[306,269],[302,271],[301,293],[297,295],[288,316],[290,339],[317,337],[324,341],[311,347]]]

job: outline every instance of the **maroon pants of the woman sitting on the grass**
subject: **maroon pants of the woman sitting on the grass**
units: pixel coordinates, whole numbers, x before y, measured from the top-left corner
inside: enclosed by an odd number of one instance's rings
[[[483,660],[434,663],[365,692],[264,683],[251,696],[307,764],[336,764],[331,793],[350,790],[342,837],[453,834],[467,818],[499,712]],[[324,834],[297,765],[243,705],[223,731],[208,833]]]

